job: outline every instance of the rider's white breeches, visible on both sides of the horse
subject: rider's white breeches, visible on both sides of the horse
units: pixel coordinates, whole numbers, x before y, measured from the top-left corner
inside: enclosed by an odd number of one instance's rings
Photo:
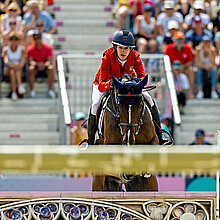
[[[91,109],[92,115],[96,115],[100,99],[102,98],[102,96],[104,96],[107,93],[109,93],[109,90],[106,92],[100,92],[98,89],[98,85],[93,84],[93,87],[92,87],[92,109]],[[152,107],[154,105],[154,102],[153,102],[153,99],[151,98],[151,96],[149,95],[149,93],[147,91],[145,91],[142,94],[149,101],[149,103]]]

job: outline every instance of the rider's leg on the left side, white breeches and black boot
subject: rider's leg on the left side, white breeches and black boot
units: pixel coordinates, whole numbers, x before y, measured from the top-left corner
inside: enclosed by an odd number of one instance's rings
[[[96,125],[96,112],[97,112],[97,109],[99,106],[99,102],[100,102],[102,96],[105,94],[106,94],[106,92],[103,93],[98,90],[98,85],[93,84],[93,87],[92,87],[92,107],[89,112],[89,121],[88,121],[88,137],[90,137],[91,135],[92,136],[91,136],[88,144],[94,144],[95,133],[96,133],[95,128],[97,127],[97,125]]]

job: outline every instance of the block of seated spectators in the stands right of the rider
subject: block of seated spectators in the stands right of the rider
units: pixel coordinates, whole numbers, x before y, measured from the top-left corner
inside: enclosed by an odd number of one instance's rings
[[[219,1],[114,3],[117,28],[129,29],[134,34],[139,53],[164,53],[170,57],[181,112],[187,98],[219,98]]]

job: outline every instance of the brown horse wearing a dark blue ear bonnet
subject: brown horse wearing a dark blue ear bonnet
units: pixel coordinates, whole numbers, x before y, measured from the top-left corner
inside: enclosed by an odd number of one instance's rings
[[[139,82],[130,75],[124,75],[121,81],[112,77],[114,87],[105,98],[100,144],[159,144],[150,106],[142,95],[147,79],[147,75]],[[158,184],[156,177],[151,174],[96,174],[93,176],[92,190],[158,191]]]

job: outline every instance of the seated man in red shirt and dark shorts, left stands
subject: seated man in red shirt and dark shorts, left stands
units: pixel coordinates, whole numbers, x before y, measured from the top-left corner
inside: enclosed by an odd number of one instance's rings
[[[34,90],[34,82],[36,74],[47,75],[50,98],[56,98],[53,91],[54,82],[54,66],[53,66],[53,48],[50,45],[43,44],[41,33],[35,31],[33,34],[34,45],[27,48],[29,59],[29,82],[30,82],[30,97],[34,98],[36,92]]]

